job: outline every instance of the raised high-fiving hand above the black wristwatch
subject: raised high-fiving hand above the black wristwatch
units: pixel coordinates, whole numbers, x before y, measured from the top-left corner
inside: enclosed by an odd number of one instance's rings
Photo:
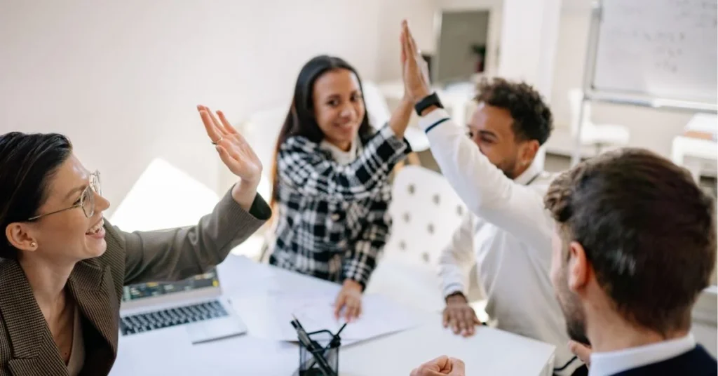
[[[432,93],[429,83],[429,66],[421,57],[406,19],[401,22],[401,76],[404,93],[414,104]]]

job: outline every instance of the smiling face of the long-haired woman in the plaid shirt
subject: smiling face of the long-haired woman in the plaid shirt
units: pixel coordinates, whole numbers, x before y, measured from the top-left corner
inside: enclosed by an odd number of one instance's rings
[[[314,117],[325,139],[342,150],[349,150],[364,119],[364,99],[357,76],[338,68],[314,81]]]

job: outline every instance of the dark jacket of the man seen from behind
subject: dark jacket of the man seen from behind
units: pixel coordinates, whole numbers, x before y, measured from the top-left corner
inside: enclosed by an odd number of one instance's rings
[[[718,374],[716,359],[710,356],[701,345],[678,357],[663,360],[663,362],[647,364],[633,370],[617,373],[615,376],[709,376]]]

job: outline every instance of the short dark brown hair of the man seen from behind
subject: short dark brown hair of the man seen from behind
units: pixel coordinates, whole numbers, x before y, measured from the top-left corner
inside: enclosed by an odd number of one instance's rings
[[[716,224],[684,168],[648,150],[607,152],[556,178],[544,202],[626,319],[664,335],[689,327],[716,263]]]

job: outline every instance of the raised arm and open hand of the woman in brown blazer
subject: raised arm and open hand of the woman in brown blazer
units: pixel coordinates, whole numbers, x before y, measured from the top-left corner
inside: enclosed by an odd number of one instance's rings
[[[196,226],[130,234],[108,225],[108,234],[126,251],[125,284],[180,280],[206,272],[271,216],[257,194],[259,158],[220,111],[217,119],[205,106],[197,110],[210,142],[239,182]]]

